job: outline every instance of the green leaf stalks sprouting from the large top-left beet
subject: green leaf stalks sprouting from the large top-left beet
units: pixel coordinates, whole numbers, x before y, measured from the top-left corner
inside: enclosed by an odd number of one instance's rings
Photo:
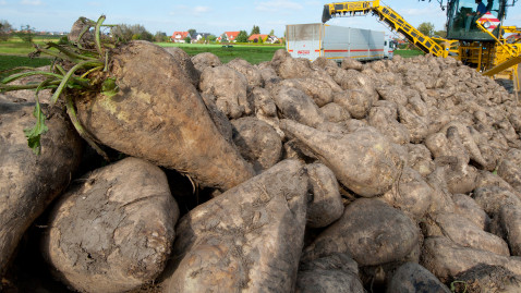
[[[104,25],[106,20],[101,15],[97,22],[82,19],[84,27],[77,37],[76,42],[60,40],[60,42],[47,42],[44,47],[34,45],[36,51],[29,57],[38,57],[40,54],[54,58],[51,72],[38,71],[33,68],[15,68],[9,71],[15,73],[0,81],[0,93],[22,89],[35,90],[35,110],[34,115],[36,123],[32,129],[25,129],[24,133],[27,137],[27,144],[36,155],[41,151],[40,138],[48,129],[46,125],[46,115],[41,110],[38,94],[43,89],[53,90],[50,99],[50,106],[54,106],[60,99],[66,108],[66,113],[76,129],[77,133],[94,148],[98,154],[108,160],[108,156],[96,144],[96,139],[81,125],[76,110],[74,109],[73,95],[71,90],[90,90],[100,91],[104,95],[112,96],[118,93],[118,85],[114,78],[108,76],[107,69],[110,57],[110,49],[116,46],[113,39],[102,35],[101,27],[112,25]],[[94,37],[82,38],[87,34]],[[22,72],[20,72],[22,71]],[[101,74],[99,74],[101,72]],[[36,84],[12,84],[16,80],[28,76],[38,75],[45,80]],[[100,77],[101,76],[101,77]]]

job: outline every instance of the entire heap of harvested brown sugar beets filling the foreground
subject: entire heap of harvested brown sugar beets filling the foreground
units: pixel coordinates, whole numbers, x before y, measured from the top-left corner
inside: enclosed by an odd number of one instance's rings
[[[474,69],[131,41],[110,72],[74,99],[111,162],[48,106],[35,156],[0,98],[5,292],[521,292],[521,108]]]

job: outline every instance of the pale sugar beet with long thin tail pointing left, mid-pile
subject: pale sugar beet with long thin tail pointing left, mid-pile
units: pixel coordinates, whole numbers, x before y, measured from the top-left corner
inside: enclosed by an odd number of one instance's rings
[[[363,127],[350,134],[326,133],[291,120],[280,127],[299,139],[354,193],[373,197],[389,191],[403,163],[392,143],[375,129]]]

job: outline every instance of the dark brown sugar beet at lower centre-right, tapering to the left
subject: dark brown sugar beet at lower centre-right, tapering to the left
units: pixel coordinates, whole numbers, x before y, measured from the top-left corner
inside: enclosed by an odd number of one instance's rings
[[[304,249],[303,259],[348,253],[360,266],[399,261],[417,247],[419,230],[409,217],[386,203],[360,198]]]

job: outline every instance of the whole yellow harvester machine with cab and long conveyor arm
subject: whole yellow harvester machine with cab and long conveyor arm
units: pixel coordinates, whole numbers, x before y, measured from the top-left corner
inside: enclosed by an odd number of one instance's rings
[[[520,89],[518,64],[521,63],[521,40],[506,38],[520,34],[521,28],[504,26],[507,8],[517,0],[483,0],[486,13],[476,13],[474,0],[448,0],[447,37],[428,37],[403,20],[391,8],[375,1],[335,2],[324,5],[323,23],[335,16],[356,16],[373,13],[391,30],[407,37],[425,53],[437,57],[453,57],[475,68],[484,75],[509,78],[516,90]]]

